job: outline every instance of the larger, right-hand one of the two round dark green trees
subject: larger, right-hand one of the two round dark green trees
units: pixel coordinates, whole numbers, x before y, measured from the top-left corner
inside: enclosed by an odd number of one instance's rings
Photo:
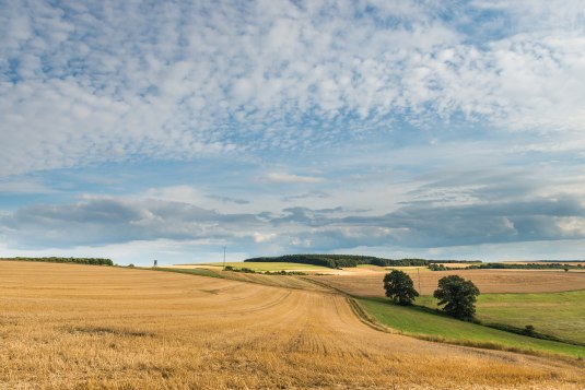
[[[457,275],[440,279],[438,288],[433,294],[438,299],[438,306],[445,305],[443,311],[466,321],[473,319],[478,295],[479,289],[471,281]]]

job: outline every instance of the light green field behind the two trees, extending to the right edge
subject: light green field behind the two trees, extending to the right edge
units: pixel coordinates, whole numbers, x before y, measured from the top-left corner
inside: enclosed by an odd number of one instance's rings
[[[539,333],[585,343],[585,291],[539,294],[481,294],[476,304],[483,323],[516,328],[527,324]],[[436,308],[436,299],[423,296],[418,305]]]

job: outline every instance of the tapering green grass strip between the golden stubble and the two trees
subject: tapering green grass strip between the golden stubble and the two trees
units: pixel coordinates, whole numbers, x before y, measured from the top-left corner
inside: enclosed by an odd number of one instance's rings
[[[585,357],[584,346],[504,332],[434,314],[426,308],[394,305],[386,298],[360,298],[359,302],[365,311],[378,322],[409,335],[465,345]]]

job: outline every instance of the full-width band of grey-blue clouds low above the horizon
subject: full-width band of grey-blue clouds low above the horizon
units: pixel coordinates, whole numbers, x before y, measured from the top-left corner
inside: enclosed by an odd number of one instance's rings
[[[388,214],[288,208],[220,213],[153,199],[85,198],[36,204],[0,216],[0,234],[15,247],[108,245],[134,240],[271,243],[282,250],[393,245],[431,248],[583,239],[585,208],[570,196],[475,204],[413,202]]]

